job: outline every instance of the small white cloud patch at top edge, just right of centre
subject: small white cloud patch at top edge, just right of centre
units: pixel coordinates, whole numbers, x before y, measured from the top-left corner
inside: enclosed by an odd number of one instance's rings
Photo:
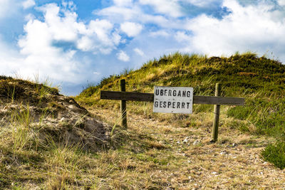
[[[178,0],[140,0],[142,5],[153,6],[155,11],[172,17],[183,16]]]

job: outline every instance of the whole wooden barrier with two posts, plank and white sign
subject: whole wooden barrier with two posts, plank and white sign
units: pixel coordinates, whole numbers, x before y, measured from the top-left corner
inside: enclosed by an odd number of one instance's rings
[[[221,85],[216,84],[215,96],[193,95],[193,88],[155,87],[155,93],[125,92],[125,80],[120,80],[120,92],[101,91],[100,99],[121,100],[122,126],[127,127],[125,101],[154,102],[154,112],[192,113],[192,104],[214,105],[212,142],[217,142],[220,105],[244,105],[243,97],[221,97]]]

